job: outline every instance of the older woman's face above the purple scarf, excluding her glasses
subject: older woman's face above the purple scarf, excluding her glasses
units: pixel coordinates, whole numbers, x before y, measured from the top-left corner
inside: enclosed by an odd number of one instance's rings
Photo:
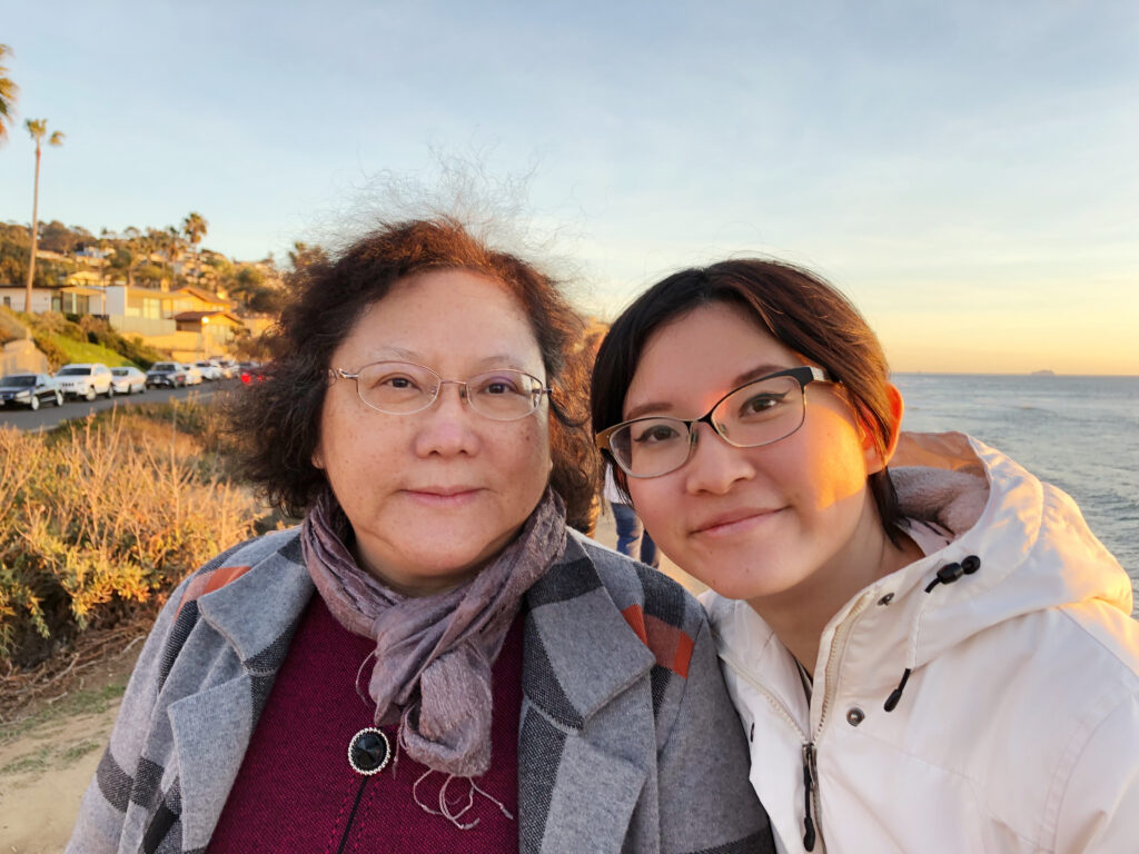
[[[505,287],[462,270],[399,282],[333,353],[355,372],[415,362],[443,379],[511,368],[546,380],[538,342]],[[325,470],[355,533],[360,565],[409,594],[456,586],[515,536],[550,474],[549,410],[495,421],[444,385],[426,410],[387,414],[351,379],[328,388],[312,462]]]

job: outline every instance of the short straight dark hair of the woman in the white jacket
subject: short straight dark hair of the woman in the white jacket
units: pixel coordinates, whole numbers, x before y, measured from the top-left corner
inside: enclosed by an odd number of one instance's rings
[[[722,261],[673,273],[617,318],[593,364],[595,433],[621,422],[625,394],[653,332],[716,303],[743,309],[782,345],[825,368],[845,388],[885,459],[896,425],[886,391],[890,368],[878,337],[837,288],[793,264],[761,258]],[[616,466],[614,474],[626,490],[624,474]],[[896,541],[898,495],[885,469],[870,475],[869,487],[886,534]]]

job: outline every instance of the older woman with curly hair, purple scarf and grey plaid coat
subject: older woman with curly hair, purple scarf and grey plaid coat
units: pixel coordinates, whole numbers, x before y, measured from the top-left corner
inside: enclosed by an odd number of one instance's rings
[[[304,271],[247,469],[298,528],[174,591],[68,851],[761,851],[698,603],[566,528],[549,279],[450,221]]]

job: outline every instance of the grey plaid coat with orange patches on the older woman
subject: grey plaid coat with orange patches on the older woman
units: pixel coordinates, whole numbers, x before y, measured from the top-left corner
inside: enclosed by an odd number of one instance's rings
[[[131,676],[68,854],[206,848],[313,590],[295,528],[182,582]],[[775,851],[695,599],[571,532],[524,607],[523,852]]]

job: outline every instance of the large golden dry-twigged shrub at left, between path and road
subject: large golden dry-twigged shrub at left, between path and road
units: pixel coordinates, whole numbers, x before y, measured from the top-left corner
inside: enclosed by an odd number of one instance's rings
[[[48,436],[0,429],[0,664],[34,664],[88,625],[153,607],[252,535],[263,508],[187,432],[214,418],[195,407]]]

